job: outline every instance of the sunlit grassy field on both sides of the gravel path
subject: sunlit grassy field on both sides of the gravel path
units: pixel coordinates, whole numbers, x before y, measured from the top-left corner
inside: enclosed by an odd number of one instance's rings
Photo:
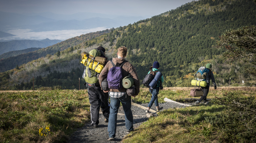
[[[190,88],[170,87],[159,93],[164,98],[192,98]],[[256,87],[210,88],[207,98],[222,98],[233,92],[245,97],[255,96]],[[133,100],[148,103],[148,89],[142,88]],[[198,97],[199,98],[199,97]],[[224,112],[224,106],[210,103],[182,109],[169,109],[150,118],[123,142],[221,142],[205,117]],[[69,135],[90,121],[87,90],[0,91],[0,142],[67,142]]]

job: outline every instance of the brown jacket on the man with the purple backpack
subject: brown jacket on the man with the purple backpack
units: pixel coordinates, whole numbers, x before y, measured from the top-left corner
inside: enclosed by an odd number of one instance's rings
[[[113,58],[112,61],[114,64],[118,63],[122,63],[125,59],[124,58]],[[108,71],[113,67],[112,63],[109,61],[106,66],[102,69],[102,71],[99,74],[99,84],[101,86],[101,82],[103,81],[103,79],[105,79],[108,75]],[[139,94],[139,77],[138,74],[135,70],[135,68],[133,67],[133,65],[129,62],[126,62],[123,64],[122,66],[122,74],[123,77],[130,75],[133,80],[134,80],[134,86],[135,86],[135,90],[136,93],[135,95]],[[110,89],[110,91],[113,92],[125,92],[125,88],[121,88],[121,89]]]

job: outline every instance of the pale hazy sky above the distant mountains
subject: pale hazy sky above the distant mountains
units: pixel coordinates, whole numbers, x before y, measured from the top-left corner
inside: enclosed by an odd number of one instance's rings
[[[192,0],[0,0],[0,11],[74,14],[94,12],[124,16],[155,16]]]

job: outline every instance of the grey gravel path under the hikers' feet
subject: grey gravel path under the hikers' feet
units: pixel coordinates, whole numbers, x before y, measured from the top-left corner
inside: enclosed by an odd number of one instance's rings
[[[147,104],[140,104],[143,106],[147,106]],[[184,108],[186,106],[182,106],[177,103],[165,102],[159,103],[163,109],[168,108]],[[133,112],[133,127],[136,129],[141,123],[147,121],[147,117],[145,110],[141,109],[137,106],[132,105]],[[153,104],[152,109],[156,110],[155,105]],[[99,116],[99,124],[98,128],[93,128],[90,123],[85,124],[84,127],[78,129],[72,136],[70,143],[119,143],[122,138],[127,135],[125,128],[125,119],[123,108],[120,107],[117,115],[117,133],[114,141],[108,141],[108,123],[104,122],[104,117],[102,114]]]

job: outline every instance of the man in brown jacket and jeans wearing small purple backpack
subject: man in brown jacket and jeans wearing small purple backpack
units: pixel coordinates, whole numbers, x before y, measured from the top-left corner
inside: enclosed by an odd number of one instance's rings
[[[127,133],[133,131],[133,114],[131,110],[131,96],[127,95],[126,88],[122,87],[122,78],[130,75],[134,81],[135,94],[133,97],[139,94],[139,77],[133,67],[133,65],[126,61],[124,58],[127,54],[126,47],[119,47],[117,51],[117,58],[113,58],[109,61],[103,70],[99,74],[99,83],[102,87],[102,81],[107,78],[108,87],[110,90],[110,114],[108,120],[108,140],[114,140],[117,129],[117,113],[122,103],[122,107],[125,114],[125,127]]]

